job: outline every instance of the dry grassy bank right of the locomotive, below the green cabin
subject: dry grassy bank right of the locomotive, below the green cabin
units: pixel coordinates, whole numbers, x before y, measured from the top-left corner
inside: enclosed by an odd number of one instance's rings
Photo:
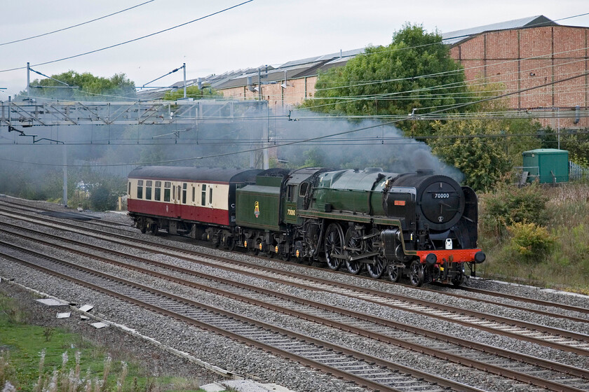
[[[510,248],[509,235],[481,224],[480,246],[487,260],[478,265],[478,275],[589,294],[589,184],[540,186],[534,192],[548,196],[544,224],[555,237],[555,246],[546,255],[518,257]],[[481,197],[480,216],[485,216],[489,196]]]

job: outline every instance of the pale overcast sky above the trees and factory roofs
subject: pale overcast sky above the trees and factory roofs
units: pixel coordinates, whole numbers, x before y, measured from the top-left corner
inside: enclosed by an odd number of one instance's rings
[[[25,90],[26,64],[46,75],[73,70],[110,77],[125,73],[136,86],[187,64],[187,78],[264,64],[278,66],[339,50],[388,45],[406,22],[448,32],[545,15],[557,20],[589,13],[586,0],[154,0],[109,18],[17,43],[100,18],[147,0],[1,1],[0,101]],[[51,64],[189,23],[161,34]],[[589,15],[558,21],[589,27]],[[15,69],[21,68],[21,69]],[[6,71],[15,69],[13,71]],[[41,78],[34,73],[31,80]],[[151,86],[182,80],[182,71]]]

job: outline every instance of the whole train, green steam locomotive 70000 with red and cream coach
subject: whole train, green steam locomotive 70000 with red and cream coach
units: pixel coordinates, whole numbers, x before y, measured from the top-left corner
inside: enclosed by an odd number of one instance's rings
[[[459,286],[485,261],[477,197],[431,171],[137,167],[128,214],[142,232],[206,239],[283,260],[325,262],[413,286]]]

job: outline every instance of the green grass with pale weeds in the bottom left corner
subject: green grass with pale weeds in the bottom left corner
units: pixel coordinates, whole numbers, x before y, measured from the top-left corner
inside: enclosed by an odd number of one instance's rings
[[[114,356],[81,335],[27,320],[22,305],[0,293],[0,390],[9,381],[34,392],[200,391],[198,380],[151,377],[130,353]]]

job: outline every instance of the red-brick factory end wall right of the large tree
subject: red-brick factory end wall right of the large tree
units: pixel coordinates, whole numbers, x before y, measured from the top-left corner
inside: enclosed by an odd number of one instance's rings
[[[466,80],[499,83],[515,93],[508,98],[510,109],[534,113],[553,128],[589,127],[588,27],[536,16],[442,37]],[[543,87],[532,88],[537,86]]]

